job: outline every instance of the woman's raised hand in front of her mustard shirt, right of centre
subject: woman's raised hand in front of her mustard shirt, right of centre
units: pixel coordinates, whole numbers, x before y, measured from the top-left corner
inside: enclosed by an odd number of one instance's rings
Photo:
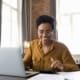
[[[51,69],[56,70],[56,71],[63,71],[64,70],[64,66],[63,64],[59,61],[59,60],[54,60],[53,58],[50,59],[51,60]]]

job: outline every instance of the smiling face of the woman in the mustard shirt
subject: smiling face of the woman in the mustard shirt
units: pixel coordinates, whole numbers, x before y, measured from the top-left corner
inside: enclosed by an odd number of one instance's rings
[[[42,42],[49,42],[52,39],[53,30],[49,23],[42,23],[38,26],[38,38]]]

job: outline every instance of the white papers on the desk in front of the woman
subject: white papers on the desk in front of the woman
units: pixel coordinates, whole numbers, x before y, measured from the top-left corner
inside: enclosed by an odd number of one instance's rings
[[[80,80],[80,71],[59,72],[58,74],[38,74],[27,80]]]

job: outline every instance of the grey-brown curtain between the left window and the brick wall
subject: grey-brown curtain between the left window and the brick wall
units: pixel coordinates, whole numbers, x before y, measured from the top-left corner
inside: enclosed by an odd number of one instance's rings
[[[22,37],[30,40],[30,0],[22,0]]]

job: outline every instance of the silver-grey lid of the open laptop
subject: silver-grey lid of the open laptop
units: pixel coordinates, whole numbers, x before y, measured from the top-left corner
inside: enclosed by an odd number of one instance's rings
[[[25,77],[19,48],[0,48],[0,75]]]

